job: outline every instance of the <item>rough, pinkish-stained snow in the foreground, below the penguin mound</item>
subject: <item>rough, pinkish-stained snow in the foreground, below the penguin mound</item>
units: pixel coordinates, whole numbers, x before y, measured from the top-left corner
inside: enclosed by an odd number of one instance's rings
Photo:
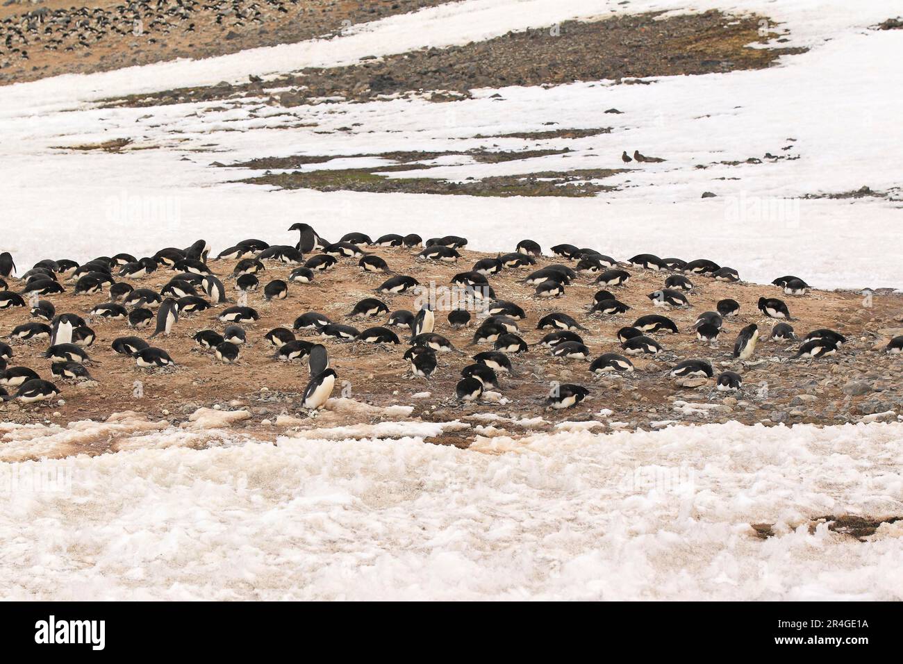
[[[61,600],[900,600],[899,528],[863,543],[794,526],[901,514],[901,438],[898,424],[470,450],[282,437],[9,464],[0,585]],[[34,474],[58,482],[28,491]],[[756,538],[759,522],[782,534]]]

